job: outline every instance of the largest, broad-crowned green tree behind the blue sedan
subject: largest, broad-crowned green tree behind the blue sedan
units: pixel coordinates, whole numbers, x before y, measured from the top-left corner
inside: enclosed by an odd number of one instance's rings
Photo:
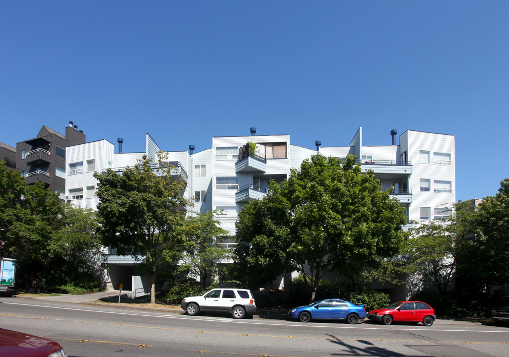
[[[355,157],[315,155],[244,206],[235,260],[265,279],[298,271],[314,300],[325,273],[336,270],[356,285],[366,268],[397,254],[405,222],[402,207]]]

